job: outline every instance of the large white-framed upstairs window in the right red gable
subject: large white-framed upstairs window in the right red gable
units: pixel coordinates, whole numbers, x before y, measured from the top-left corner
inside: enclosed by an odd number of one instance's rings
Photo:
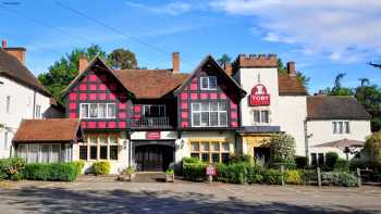
[[[194,127],[226,127],[228,106],[224,102],[192,103]]]

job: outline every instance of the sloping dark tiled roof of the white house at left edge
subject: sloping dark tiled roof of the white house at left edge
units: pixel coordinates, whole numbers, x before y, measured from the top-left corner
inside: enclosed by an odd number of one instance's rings
[[[0,76],[10,78],[23,86],[32,88],[44,96],[51,97],[33,73],[15,56],[0,48]]]

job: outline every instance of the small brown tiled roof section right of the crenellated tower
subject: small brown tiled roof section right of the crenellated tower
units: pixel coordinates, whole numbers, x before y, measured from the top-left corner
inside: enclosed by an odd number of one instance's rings
[[[280,96],[307,96],[308,92],[303,84],[288,74],[278,74],[279,95]]]

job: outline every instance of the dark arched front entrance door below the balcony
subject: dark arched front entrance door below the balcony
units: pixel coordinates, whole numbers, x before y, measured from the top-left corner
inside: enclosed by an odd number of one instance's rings
[[[135,148],[137,171],[162,172],[173,162],[173,147],[163,144],[146,144]]]

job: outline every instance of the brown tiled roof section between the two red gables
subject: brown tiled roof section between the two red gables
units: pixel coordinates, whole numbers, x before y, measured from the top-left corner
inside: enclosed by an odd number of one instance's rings
[[[113,73],[137,99],[162,98],[189,76],[171,70],[114,70]]]

